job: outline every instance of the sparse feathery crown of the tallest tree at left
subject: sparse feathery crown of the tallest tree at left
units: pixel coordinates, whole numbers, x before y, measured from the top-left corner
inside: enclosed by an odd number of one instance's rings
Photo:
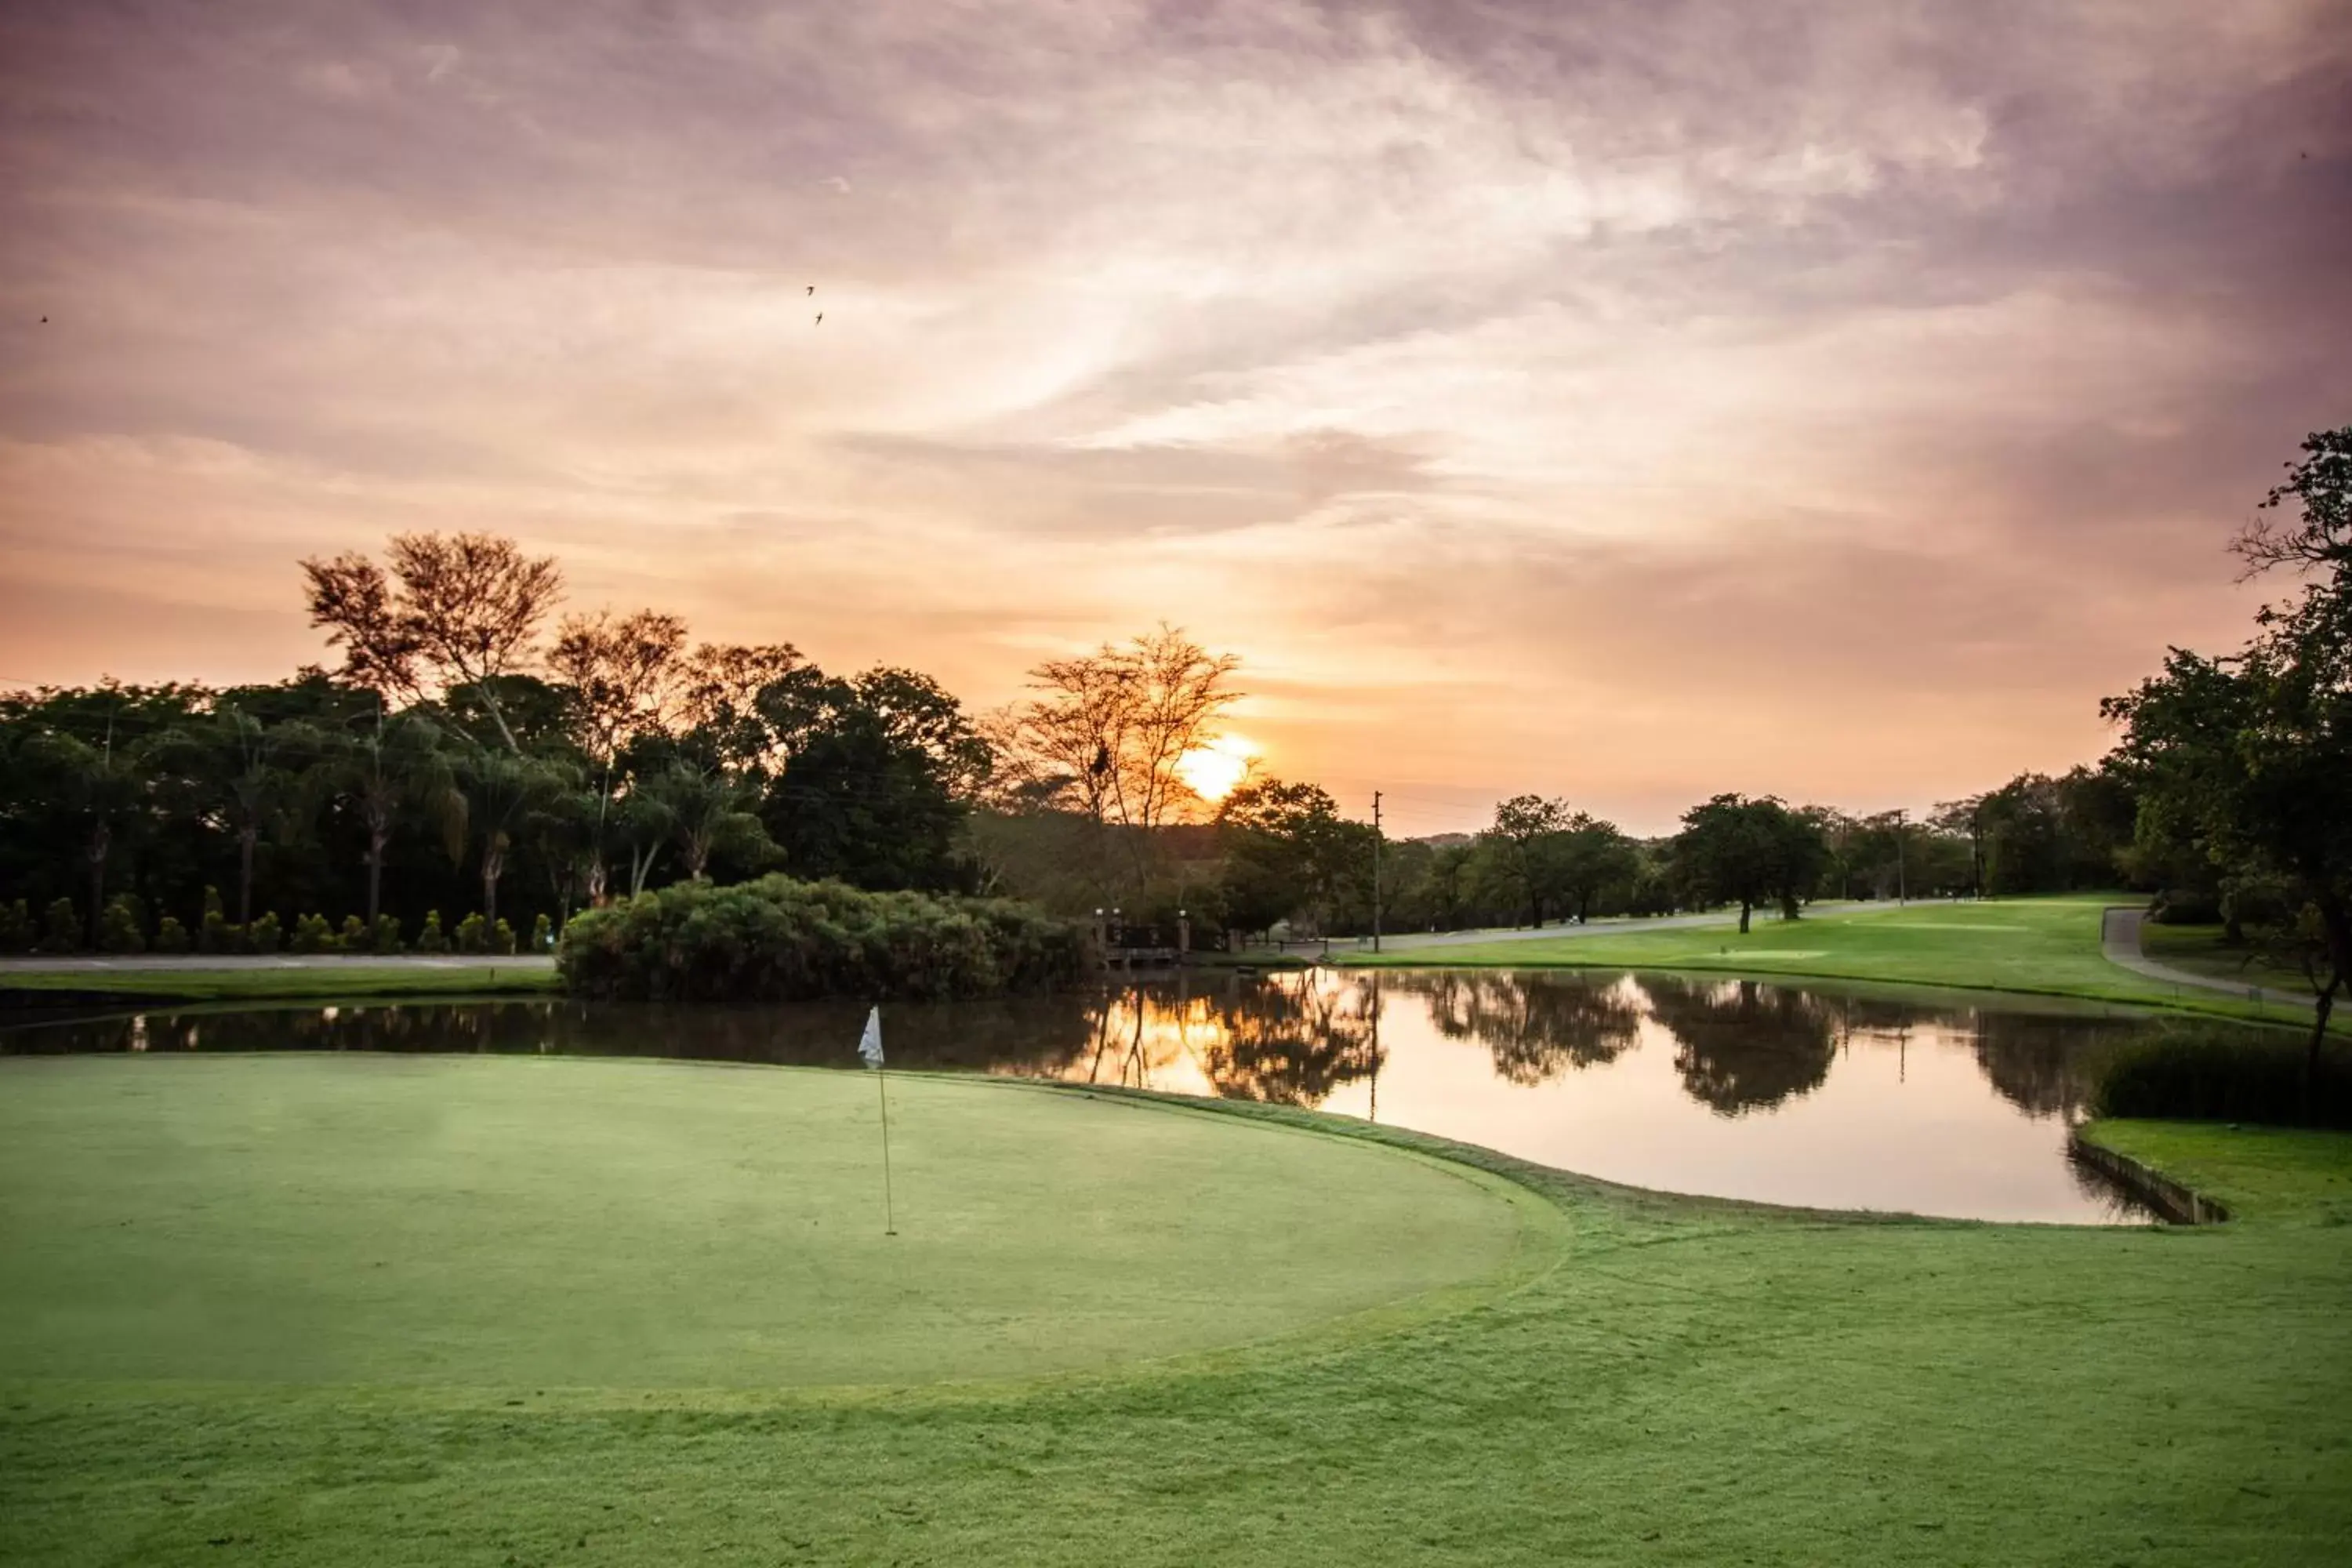
[[[499,677],[532,654],[562,597],[555,557],[529,557],[496,534],[393,534],[390,571],[358,552],[306,559],[310,625],[343,646],[343,677],[383,693],[475,686],[508,750]]]

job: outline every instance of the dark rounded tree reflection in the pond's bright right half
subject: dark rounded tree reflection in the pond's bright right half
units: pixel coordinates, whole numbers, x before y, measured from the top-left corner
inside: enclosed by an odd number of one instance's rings
[[[1830,1077],[1837,1013],[1820,997],[1755,980],[1644,976],[1639,987],[1675,1037],[1684,1091],[1719,1117],[1780,1105]]]

